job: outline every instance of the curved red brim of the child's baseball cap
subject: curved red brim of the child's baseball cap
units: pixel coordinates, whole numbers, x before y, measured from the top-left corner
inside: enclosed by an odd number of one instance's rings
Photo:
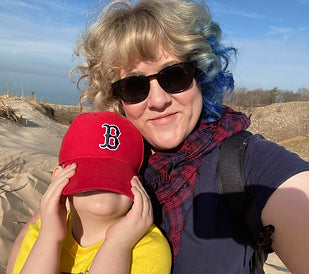
[[[62,191],[69,195],[91,190],[117,192],[134,199],[131,192],[131,179],[137,171],[119,160],[109,158],[83,158],[65,163],[76,163],[76,173]]]

